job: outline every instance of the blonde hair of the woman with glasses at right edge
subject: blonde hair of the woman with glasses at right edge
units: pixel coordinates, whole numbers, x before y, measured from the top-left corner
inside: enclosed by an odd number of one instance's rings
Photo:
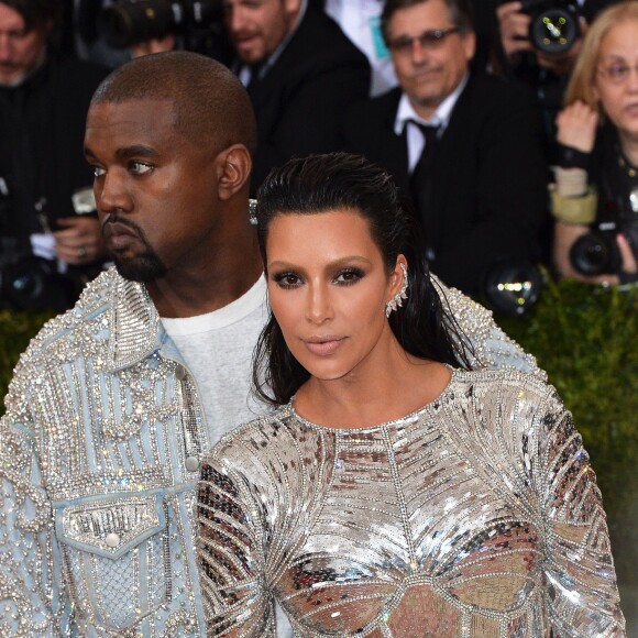
[[[601,41],[614,26],[623,24],[627,20],[638,22],[638,2],[636,0],[625,0],[618,4],[613,4],[601,11],[592,22],[583,38],[583,45],[565,91],[565,105],[581,100],[594,109],[598,108],[594,94],[594,80]]]

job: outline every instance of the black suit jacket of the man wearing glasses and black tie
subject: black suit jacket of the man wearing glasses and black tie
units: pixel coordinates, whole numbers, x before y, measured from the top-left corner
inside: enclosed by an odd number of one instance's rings
[[[406,133],[394,121],[400,89],[353,107],[343,144],[381,164],[407,189]],[[472,75],[438,142],[432,211],[426,241],[432,271],[449,286],[481,292],[490,270],[507,258],[536,261],[547,210],[541,123],[529,91]]]

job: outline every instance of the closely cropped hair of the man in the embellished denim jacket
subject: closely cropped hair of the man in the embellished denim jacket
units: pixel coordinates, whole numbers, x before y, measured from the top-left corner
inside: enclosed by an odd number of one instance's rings
[[[169,100],[175,130],[218,151],[243,144],[256,148],[256,123],[249,95],[237,76],[210,57],[187,51],[144,55],[113,70],[91,105]]]

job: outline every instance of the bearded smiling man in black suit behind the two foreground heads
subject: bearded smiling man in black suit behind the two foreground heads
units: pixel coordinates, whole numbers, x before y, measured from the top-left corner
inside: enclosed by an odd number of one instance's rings
[[[339,148],[339,117],[367,96],[370,65],[307,0],[224,0],[224,15],[257,118],[254,191],[292,156]]]

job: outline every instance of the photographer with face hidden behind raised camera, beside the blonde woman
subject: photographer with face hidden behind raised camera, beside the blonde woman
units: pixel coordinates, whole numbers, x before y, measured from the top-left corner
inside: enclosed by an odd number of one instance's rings
[[[505,0],[496,8],[499,43],[494,70],[536,90],[550,138],[587,24],[612,1]],[[543,22],[547,16],[550,21]]]

